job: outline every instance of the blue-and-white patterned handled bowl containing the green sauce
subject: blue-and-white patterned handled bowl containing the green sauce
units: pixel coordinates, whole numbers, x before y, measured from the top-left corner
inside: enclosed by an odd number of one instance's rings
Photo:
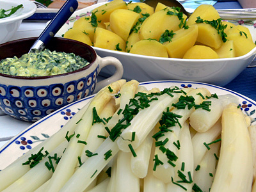
[[[24,38],[0,45],[0,60],[20,57],[36,38]],[[89,45],[64,38],[53,38],[51,51],[73,52],[90,62],[74,72],[56,76],[21,77],[0,74],[0,110],[19,120],[35,122],[56,109],[92,95],[102,67],[114,65],[113,76],[97,83],[97,90],[122,77],[123,67],[113,57],[100,58]]]

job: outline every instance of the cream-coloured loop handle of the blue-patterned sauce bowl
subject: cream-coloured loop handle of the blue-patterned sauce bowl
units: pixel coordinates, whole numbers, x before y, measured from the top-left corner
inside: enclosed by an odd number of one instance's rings
[[[97,56],[97,57],[99,58],[99,72],[102,68],[108,65],[113,65],[116,68],[116,71],[115,71],[115,74],[113,74],[111,77],[108,77],[107,79],[97,82],[93,93],[97,93],[104,86],[107,86],[110,83],[118,81],[119,79],[122,78],[124,74],[124,67],[118,59],[111,56],[107,56],[104,58],[101,58],[100,56]]]

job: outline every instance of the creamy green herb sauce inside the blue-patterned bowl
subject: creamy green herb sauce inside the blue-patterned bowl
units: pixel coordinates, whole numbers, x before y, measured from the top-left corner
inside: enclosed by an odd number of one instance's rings
[[[0,73],[12,76],[54,76],[72,72],[88,65],[81,56],[74,53],[56,52],[45,49],[29,52],[20,58],[6,58],[0,61]]]

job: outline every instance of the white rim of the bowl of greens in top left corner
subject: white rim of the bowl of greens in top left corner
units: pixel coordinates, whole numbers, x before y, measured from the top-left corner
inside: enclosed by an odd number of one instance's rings
[[[8,24],[10,22],[15,22],[18,20],[23,20],[31,15],[33,15],[36,12],[36,4],[32,1],[26,1],[26,0],[0,0],[0,3],[12,3],[15,5],[23,4],[23,9],[20,10],[20,13],[17,15],[11,15],[11,17],[6,17],[3,19],[0,19],[0,24]]]

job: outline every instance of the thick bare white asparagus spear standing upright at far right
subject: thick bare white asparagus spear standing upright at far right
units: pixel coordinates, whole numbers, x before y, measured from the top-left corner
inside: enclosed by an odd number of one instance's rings
[[[223,110],[221,151],[211,192],[251,192],[252,146],[243,112],[237,104]]]

